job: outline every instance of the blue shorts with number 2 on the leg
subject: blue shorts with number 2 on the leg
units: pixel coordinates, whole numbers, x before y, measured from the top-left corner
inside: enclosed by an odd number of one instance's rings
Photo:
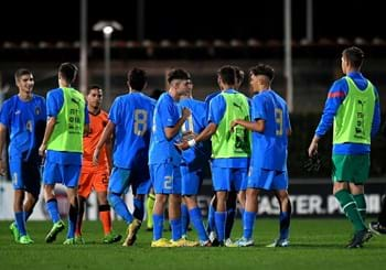
[[[172,163],[151,164],[150,177],[156,194],[181,194],[179,166]]]

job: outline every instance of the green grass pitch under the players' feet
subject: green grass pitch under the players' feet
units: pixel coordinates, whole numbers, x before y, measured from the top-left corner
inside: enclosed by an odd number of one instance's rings
[[[45,244],[49,222],[29,222],[34,244],[15,244],[9,230],[10,222],[0,222],[0,269],[385,269],[386,236],[374,236],[362,249],[347,250],[352,237],[349,222],[342,219],[292,219],[289,248],[266,248],[278,231],[277,219],[256,222],[255,247],[250,248],[150,248],[152,233],[141,228],[133,247],[101,244],[99,222],[84,224],[86,245],[64,246],[62,231],[54,244]],[[125,234],[122,222],[115,230]],[[144,226],[143,226],[144,227]],[[242,235],[235,223],[233,239]],[[170,238],[170,233],[164,233]],[[190,239],[195,235],[190,231]]]

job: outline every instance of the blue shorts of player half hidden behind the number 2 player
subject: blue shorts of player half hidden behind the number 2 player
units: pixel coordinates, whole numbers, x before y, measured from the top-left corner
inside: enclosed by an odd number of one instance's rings
[[[182,195],[197,195],[203,183],[204,174],[201,169],[190,171],[189,166],[181,165]]]

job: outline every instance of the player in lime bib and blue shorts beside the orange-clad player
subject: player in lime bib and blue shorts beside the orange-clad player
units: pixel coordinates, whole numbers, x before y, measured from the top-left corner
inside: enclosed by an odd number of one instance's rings
[[[68,229],[64,245],[75,245],[75,227],[78,215],[77,184],[82,168],[83,136],[88,132],[88,114],[84,96],[72,87],[77,67],[63,63],[58,68],[58,88],[47,93],[47,122],[39,148],[45,155],[43,183],[46,209],[53,227],[45,237],[53,242],[65,225],[61,219],[54,188],[56,183],[66,186],[69,202]]]

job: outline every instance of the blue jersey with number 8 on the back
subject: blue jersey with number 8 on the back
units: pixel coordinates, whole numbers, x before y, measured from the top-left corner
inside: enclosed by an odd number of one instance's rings
[[[119,96],[109,119],[116,125],[114,164],[130,169],[136,159],[148,156],[156,100],[142,93]]]

